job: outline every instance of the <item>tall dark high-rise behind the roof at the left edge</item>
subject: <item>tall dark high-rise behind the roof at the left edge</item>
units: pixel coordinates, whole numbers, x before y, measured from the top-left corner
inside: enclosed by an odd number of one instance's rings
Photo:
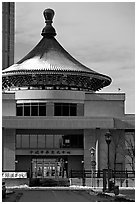
[[[2,69],[14,63],[14,2],[2,2]]]

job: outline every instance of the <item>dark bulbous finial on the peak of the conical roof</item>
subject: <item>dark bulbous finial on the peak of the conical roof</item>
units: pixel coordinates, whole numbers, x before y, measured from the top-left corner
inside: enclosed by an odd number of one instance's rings
[[[53,37],[56,35],[56,31],[52,26],[52,19],[54,17],[55,12],[52,9],[46,9],[43,12],[45,17],[46,26],[43,28],[41,35],[44,37]]]

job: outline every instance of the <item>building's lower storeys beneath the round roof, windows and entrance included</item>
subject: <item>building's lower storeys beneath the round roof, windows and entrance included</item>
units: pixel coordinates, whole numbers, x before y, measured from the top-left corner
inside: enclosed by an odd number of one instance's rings
[[[3,92],[3,171],[32,177],[69,176],[71,170],[133,170],[134,115],[124,113],[125,94],[65,90]],[[130,145],[132,143],[132,145]]]

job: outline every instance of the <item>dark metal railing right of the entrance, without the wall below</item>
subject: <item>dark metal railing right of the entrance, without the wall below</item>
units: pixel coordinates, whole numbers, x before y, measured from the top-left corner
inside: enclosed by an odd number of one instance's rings
[[[70,178],[91,178],[93,171],[91,170],[71,170]],[[111,178],[135,178],[135,171],[110,171]],[[95,178],[103,178],[103,170],[94,171]]]

